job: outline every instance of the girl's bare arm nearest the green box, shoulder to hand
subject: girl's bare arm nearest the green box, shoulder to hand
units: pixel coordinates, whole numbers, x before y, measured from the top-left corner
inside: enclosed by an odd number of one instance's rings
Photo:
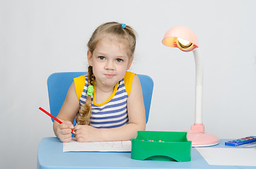
[[[129,123],[111,129],[97,129],[88,125],[76,125],[76,139],[78,142],[100,142],[129,140],[136,137],[137,131],[145,130],[146,115],[139,77],[134,76],[132,90],[127,99]]]

